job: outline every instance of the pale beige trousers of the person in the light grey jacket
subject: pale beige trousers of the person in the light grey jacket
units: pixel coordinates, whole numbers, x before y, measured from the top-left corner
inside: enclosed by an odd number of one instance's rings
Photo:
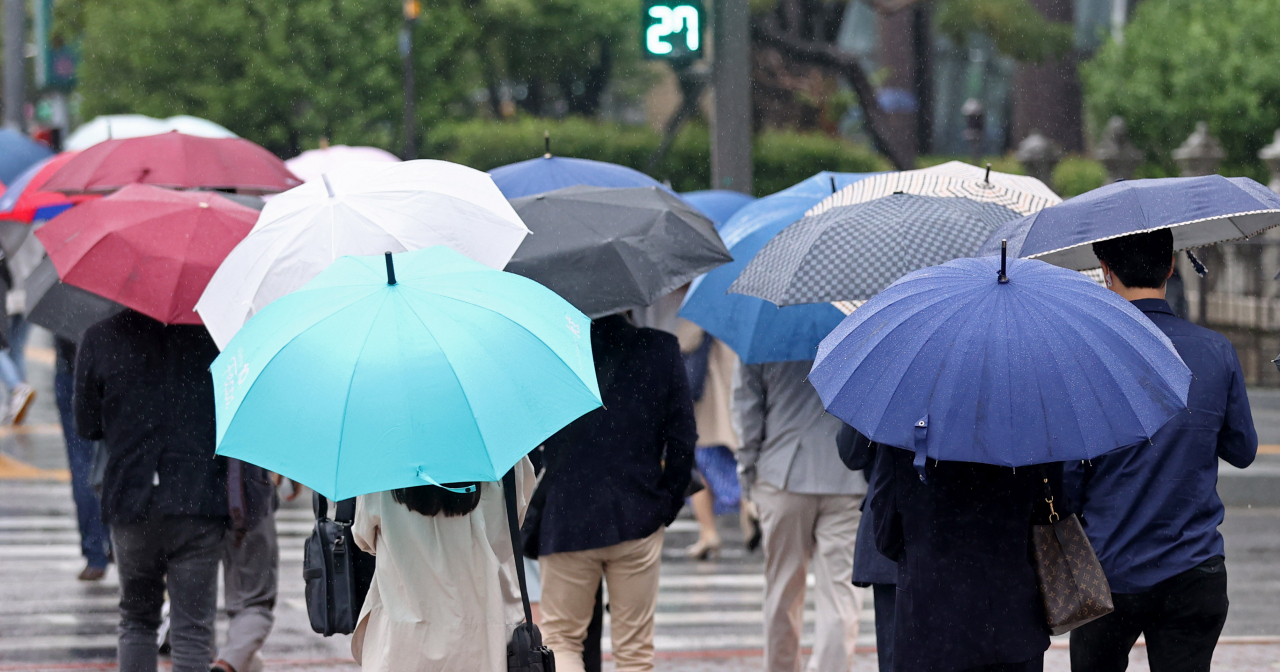
[[[812,563],[818,618],[808,669],[847,672],[863,612],[861,591],[852,584],[863,497],[799,494],[758,483],[751,500],[764,532],[765,669],[800,671],[805,577]]]

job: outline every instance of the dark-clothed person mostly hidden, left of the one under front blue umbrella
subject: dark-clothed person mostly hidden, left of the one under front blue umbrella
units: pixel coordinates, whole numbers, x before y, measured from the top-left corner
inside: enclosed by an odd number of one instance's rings
[[[863,477],[868,483],[872,481],[876,453],[881,449],[878,443],[845,425],[836,436],[836,449],[846,467],[861,471]],[[854,585],[872,589],[876,605],[876,660],[881,672],[892,672],[897,563],[876,548],[876,518],[867,506],[869,500],[869,495],[863,499],[863,520],[858,526],[858,540],[854,544]]]

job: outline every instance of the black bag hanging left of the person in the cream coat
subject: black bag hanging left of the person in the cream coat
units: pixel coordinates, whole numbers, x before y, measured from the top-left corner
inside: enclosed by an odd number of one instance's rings
[[[374,557],[356,547],[351,524],[356,499],[338,502],[334,517],[328,517],[328,500],[312,493],[316,527],[302,554],[302,580],[306,581],[307,616],[311,630],[330,636],[356,630],[365,605],[369,584],[374,580]]]

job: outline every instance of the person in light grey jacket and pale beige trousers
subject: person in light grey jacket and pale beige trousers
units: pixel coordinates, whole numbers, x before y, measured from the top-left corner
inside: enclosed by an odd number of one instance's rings
[[[832,451],[842,424],[806,380],[810,366],[742,365],[733,384],[739,481],[764,534],[764,666],[774,672],[800,669],[810,566],[818,621],[808,669],[852,667],[863,608],[852,572],[867,481]]]

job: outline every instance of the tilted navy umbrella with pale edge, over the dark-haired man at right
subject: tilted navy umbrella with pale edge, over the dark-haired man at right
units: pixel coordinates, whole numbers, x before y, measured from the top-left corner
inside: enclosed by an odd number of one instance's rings
[[[1098,268],[1093,243],[1172,229],[1174,250],[1253,236],[1280,224],[1280,195],[1249,178],[1206,175],[1116,182],[1010,221],[983,244],[1074,270]]]

